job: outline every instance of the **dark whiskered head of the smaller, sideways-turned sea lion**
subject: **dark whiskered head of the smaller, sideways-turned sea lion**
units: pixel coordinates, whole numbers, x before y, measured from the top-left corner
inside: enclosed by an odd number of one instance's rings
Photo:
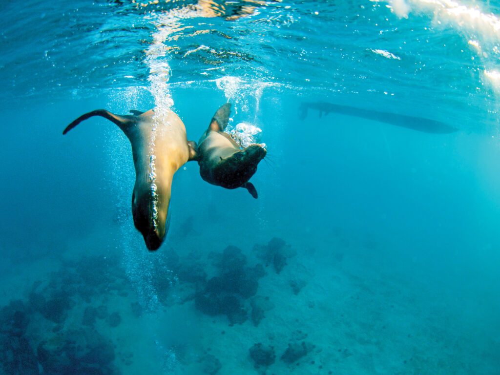
[[[266,152],[262,144],[253,143],[229,157],[221,158],[214,171],[220,186],[228,189],[243,186],[256,172],[257,164]]]

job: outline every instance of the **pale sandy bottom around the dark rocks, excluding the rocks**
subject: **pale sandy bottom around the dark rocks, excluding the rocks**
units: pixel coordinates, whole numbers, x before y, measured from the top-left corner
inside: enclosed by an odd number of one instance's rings
[[[258,325],[251,319],[230,324],[226,315],[202,313],[195,307],[195,286],[169,273],[168,260],[158,263],[155,257],[175,249],[179,261],[200,264],[207,278],[216,274],[210,252],[221,253],[228,244],[242,250],[248,266],[262,263],[253,244],[265,244],[272,236],[255,241],[249,234],[237,234],[224,243],[211,230],[174,236],[169,249],[130,254],[113,247],[107,233],[96,231],[68,244],[59,259],[16,265],[2,280],[1,303],[28,303],[33,284],[40,292],[51,281],[57,285],[57,271],[67,264],[81,264],[76,266],[79,272],[86,267],[95,272],[88,259],[95,264],[116,256],[121,260],[107,265],[114,269],[105,285],[94,285],[85,298],[68,296],[72,304],[55,332],[56,323],[36,311],[30,314],[26,337],[35,352],[40,342],[81,329],[86,307],[105,306],[106,317],[96,318],[92,329],[112,342],[115,373],[500,373],[500,343],[493,330],[478,331],[432,283],[397,274],[379,251],[367,251],[341,232],[315,247],[304,245],[301,237],[283,238],[291,250],[286,265],[279,273],[272,265],[264,267],[256,295],[242,301],[248,311],[252,298],[268,302]],[[207,244],[210,251],[195,250]],[[159,274],[171,284],[151,286]],[[56,287],[62,288],[52,285]],[[112,313],[120,317],[115,326],[109,323]],[[306,355],[290,363],[281,359],[289,344],[302,342]],[[249,349],[256,343],[272,347],[272,364],[254,365]]]

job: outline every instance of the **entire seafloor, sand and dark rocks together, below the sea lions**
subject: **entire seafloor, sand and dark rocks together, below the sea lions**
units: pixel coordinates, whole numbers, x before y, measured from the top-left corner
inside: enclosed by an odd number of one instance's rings
[[[155,253],[116,249],[109,233],[120,231],[96,226],[57,259],[13,260],[1,283],[1,371],[498,373],[491,338],[431,280],[395,271],[389,244],[367,233],[221,242],[189,220],[195,229]]]

